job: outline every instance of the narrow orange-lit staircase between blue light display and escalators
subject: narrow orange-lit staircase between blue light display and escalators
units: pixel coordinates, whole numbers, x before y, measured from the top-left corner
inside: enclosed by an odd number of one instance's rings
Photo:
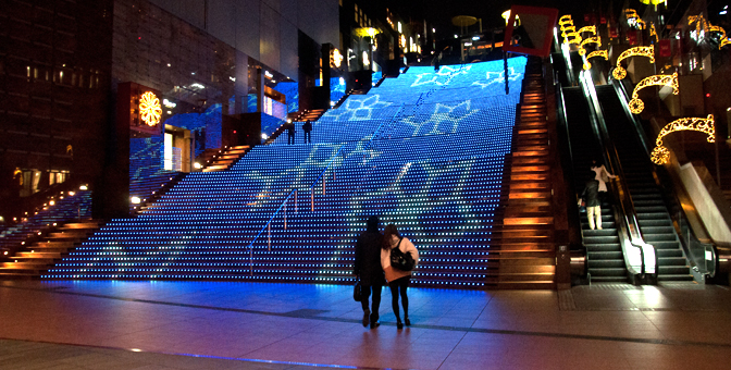
[[[487,279],[487,283],[498,287],[555,287],[550,149],[545,83],[540,67],[528,64],[515,126],[503,238],[497,257],[491,256],[499,261],[499,271]]]

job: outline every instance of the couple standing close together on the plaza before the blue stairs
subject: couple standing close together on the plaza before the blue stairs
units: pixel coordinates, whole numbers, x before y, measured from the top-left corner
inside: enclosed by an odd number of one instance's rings
[[[387,225],[383,234],[379,232],[379,217],[371,215],[368,219],[368,227],[360,234],[356,243],[356,263],[354,273],[360,279],[361,284],[361,305],[363,306],[363,326],[371,324],[371,329],[377,328],[379,307],[381,306],[381,288],[384,282],[388,282],[391,287],[391,305],[396,316],[396,328],[402,329],[404,323],[410,325],[409,320],[409,297],[406,289],[409,286],[411,271],[400,271],[391,266],[391,252],[398,248],[401,252],[410,252],[413,260],[419,262],[419,251],[413,243],[402,237],[396,225]],[[373,293],[372,309],[368,307],[368,298]],[[404,322],[398,309],[398,297],[401,297],[404,306]]]

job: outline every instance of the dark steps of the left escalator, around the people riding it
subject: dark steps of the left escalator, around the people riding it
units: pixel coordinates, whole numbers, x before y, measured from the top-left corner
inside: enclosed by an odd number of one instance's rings
[[[580,87],[562,88],[566,121],[573,159],[574,185],[584,189],[594,172],[592,159],[602,158],[600,144],[592,130],[588,104]],[[627,282],[624,255],[619,242],[615,210],[606,197],[602,201],[603,230],[590,230],[586,212],[581,213],[581,232],[586,247],[591,282]]]

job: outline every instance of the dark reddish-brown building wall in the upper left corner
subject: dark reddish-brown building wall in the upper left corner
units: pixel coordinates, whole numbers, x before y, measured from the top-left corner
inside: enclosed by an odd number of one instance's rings
[[[0,1],[0,211],[22,207],[15,169],[102,176],[111,27],[112,0]]]

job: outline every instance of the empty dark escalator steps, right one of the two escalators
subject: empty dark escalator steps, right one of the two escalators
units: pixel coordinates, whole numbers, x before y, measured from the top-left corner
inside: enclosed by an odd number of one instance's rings
[[[596,86],[604,121],[615,144],[624,183],[644,240],[657,249],[658,281],[692,281],[687,260],[653,171],[640,133],[614,86]]]

